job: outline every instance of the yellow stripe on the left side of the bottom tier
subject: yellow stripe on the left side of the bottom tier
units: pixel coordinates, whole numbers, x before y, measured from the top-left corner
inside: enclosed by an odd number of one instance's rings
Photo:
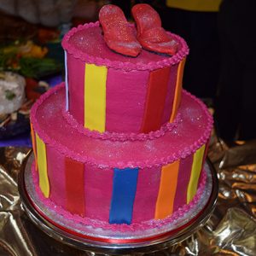
[[[38,137],[36,133],[37,149],[38,149],[38,174],[39,187],[45,197],[49,197],[49,180],[47,174],[47,159],[44,142]]]

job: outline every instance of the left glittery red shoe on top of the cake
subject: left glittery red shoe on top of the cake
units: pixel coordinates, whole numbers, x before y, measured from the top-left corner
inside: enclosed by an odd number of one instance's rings
[[[122,54],[136,57],[142,50],[136,35],[118,6],[104,5],[99,13],[99,20],[104,32],[104,40],[110,49]]]

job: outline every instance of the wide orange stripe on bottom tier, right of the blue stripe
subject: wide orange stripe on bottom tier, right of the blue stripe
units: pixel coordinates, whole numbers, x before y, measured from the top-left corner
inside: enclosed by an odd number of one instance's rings
[[[177,189],[179,160],[162,167],[160,189],[154,218],[166,218],[173,212],[173,202]]]

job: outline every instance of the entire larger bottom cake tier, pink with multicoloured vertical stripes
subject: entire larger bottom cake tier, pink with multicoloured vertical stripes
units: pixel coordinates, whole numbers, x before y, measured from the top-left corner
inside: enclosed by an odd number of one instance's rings
[[[176,125],[144,140],[84,135],[64,118],[64,108],[64,84],[32,108],[32,173],[42,196],[73,218],[105,229],[137,229],[187,211],[198,200],[212,117],[194,96],[183,91]]]

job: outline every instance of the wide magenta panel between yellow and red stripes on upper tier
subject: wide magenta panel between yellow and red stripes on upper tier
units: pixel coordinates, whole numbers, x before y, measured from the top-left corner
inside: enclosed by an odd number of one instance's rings
[[[148,77],[148,71],[127,73],[108,68],[106,130],[116,132],[140,130]]]

